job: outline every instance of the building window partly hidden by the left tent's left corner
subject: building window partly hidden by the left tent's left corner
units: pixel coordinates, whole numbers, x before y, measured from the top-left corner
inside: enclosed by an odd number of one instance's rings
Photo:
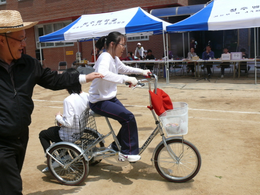
[[[35,37],[37,48],[40,48],[39,37],[48,35],[52,32],[55,32],[65,26],[68,26],[72,21],[63,21],[63,22],[55,22],[48,24],[39,24],[35,25]],[[74,43],[41,43],[41,48],[49,48],[49,47],[64,47],[64,46],[74,46]]]

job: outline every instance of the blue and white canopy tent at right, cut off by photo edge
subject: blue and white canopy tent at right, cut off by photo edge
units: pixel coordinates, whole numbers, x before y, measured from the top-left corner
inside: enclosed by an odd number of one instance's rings
[[[226,30],[260,26],[259,0],[214,0],[189,18],[166,27],[167,31]],[[256,59],[255,59],[256,66]],[[255,68],[256,84],[256,68]]]

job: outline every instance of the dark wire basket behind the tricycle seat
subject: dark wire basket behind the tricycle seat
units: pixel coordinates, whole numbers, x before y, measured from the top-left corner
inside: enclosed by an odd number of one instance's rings
[[[96,130],[95,118],[91,115],[90,109],[86,109],[80,117],[74,115],[73,126],[75,128],[61,126],[63,134],[60,131],[60,138],[84,148],[99,137]]]

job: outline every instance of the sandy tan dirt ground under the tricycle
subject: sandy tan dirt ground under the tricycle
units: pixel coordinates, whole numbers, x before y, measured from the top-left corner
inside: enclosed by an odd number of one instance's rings
[[[188,104],[188,134],[184,139],[196,145],[202,156],[202,167],[196,177],[185,183],[172,183],[156,172],[150,159],[161,140],[157,136],[136,164],[115,167],[103,160],[89,167],[89,176],[80,185],[58,183],[50,173],[41,172],[46,167],[46,158],[38,135],[54,125],[55,113],[62,112],[62,101],[68,92],[36,86],[30,139],[21,172],[23,194],[260,194],[260,87],[234,85],[254,83],[248,78],[196,82],[179,77],[171,78],[170,82],[175,84],[161,84],[160,88],[173,102]],[[83,85],[83,91],[87,92],[89,86]],[[145,107],[149,105],[148,90],[119,85],[117,98],[135,114],[142,146],[155,127],[151,112]],[[110,121],[117,132],[119,123]],[[104,118],[97,118],[96,124],[100,133],[108,133]],[[111,141],[112,136],[105,145]]]

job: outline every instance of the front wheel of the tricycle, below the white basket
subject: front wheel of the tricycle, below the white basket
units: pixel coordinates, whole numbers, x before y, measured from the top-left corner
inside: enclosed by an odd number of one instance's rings
[[[201,154],[192,143],[181,139],[168,140],[167,146],[178,157],[173,159],[162,143],[154,155],[154,165],[161,177],[171,182],[185,182],[195,177],[201,168]]]

